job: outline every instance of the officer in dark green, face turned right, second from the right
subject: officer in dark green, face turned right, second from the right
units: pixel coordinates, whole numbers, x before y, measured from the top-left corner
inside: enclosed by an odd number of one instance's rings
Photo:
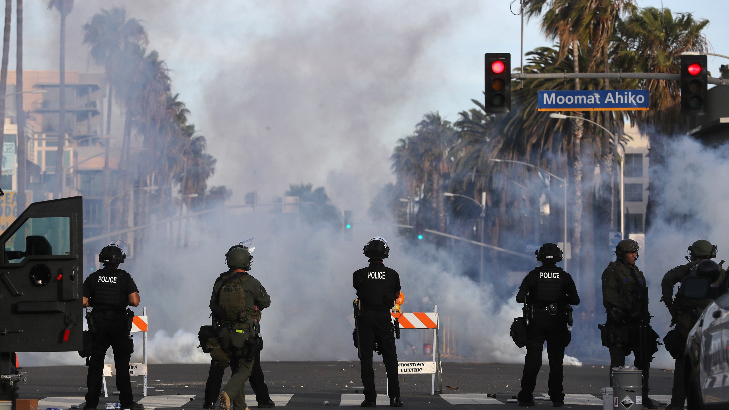
[[[658,334],[650,328],[648,287],[643,272],[636,266],[638,242],[623,239],[615,247],[616,260],[602,273],[602,303],[607,322],[600,325],[603,343],[610,351],[610,386],[612,368],[625,365],[625,356],[635,355],[635,366],[643,372],[643,407],[658,409],[648,398],[650,362],[658,351]]]

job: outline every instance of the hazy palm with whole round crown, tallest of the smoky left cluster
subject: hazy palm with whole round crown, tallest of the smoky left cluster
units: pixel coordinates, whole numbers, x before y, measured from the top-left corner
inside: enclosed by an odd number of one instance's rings
[[[114,82],[117,82],[115,69],[120,68],[120,59],[128,57],[128,45],[147,45],[147,31],[139,20],[128,18],[126,10],[114,7],[111,10],[102,9],[101,13],[93,15],[83,26],[84,44],[89,45],[89,55],[94,63],[103,65],[106,69],[106,82],[109,83],[109,94],[106,109],[106,135],[112,130],[112,99],[114,96]],[[102,204],[102,220],[109,220],[111,170],[109,169],[109,139],[105,142],[104,152],[104,200]],[[105,231],[109,229],[104,225]]]

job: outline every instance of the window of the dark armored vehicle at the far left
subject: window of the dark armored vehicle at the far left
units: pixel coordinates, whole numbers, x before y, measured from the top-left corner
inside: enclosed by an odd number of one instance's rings
[[[26,256],[69,255],[71,219],[69,217],[28,218],[5,241],[5,262],[20,262]]]

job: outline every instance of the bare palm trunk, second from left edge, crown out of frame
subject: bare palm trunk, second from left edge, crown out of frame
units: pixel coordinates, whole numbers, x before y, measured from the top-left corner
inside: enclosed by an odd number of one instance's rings
[[[15,47],[15,111],[17,112],[17,210],[26,209],[26,110],[23,109],[23,0],[17,0]]]

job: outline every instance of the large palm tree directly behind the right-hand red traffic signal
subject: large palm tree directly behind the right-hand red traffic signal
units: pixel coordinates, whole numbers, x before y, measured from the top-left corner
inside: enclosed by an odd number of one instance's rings
[[[702,31],[708,24],[708,20],[695,20],[691,13],[674,15],[670,9],[638,9],[617,25],[615,61],[638,72],[677,73],[681,53],[707,50],[708,42]],[[648,175],[655,184],[660,180],[658,167],[665,161],[666,139],[685,132],[679,84],[668,80],[631,80],[623,86],[650,92],[650,110],[631,112],[630,117],[642,134],[648,135]],[[659,186],[649,187],[646,228],[655,218],[660,191]]]

